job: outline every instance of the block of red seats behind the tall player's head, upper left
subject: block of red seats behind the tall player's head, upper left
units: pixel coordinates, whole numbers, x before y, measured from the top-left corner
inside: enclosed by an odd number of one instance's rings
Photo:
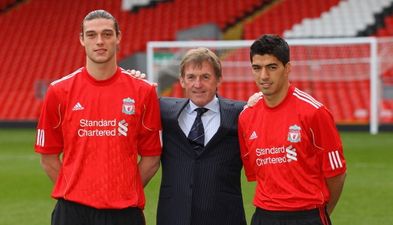
[[[45,89],[42,84],[84,64],[77,28],[91,10],[106,9],[119,20],[121,59],[144,51],[147,41],[174,40],[177,30],[208,22],[225,28],[261,4],[260,0],[177,0],[130,13],[121,11],[120,0],[27,1],[0,14],[0,26],[9,34],[1,37],[0,120],[35,121],[41,107],[37,96]]]

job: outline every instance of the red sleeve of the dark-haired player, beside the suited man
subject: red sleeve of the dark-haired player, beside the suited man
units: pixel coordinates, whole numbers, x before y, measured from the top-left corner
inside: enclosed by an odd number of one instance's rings
[[[239,122],[238,122],[238,136],[239,136],[239,145],[240,145],[240,155],[243,161],[244,173],[246,174],[248,181],[255,181],[255,170],[253,169],[253,164],[251,162],[249,147],[247,144],[247,135],[246,130],[244,129],[245,125],[245,115],[240,114]]]

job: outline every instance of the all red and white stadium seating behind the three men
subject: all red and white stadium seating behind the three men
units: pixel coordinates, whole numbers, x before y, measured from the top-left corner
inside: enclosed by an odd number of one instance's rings
[[[23,4],[15,4],[16,2]],[[119,20],[123,39],[118,56],[123,59],[145,51],[148,41],[175,40],[179,30],[214,23],[225,31],[245,18],[251,19],[245,23],[244,39],[255,39],[263,33],[276,33],[287,38],[390,36],[393,34],[392,2],[393,0],[151,0],[152,4],[143,2],[136,10],[122,11],[121,0],[0,1],[0,9],[14,5],[7,8],[6,13],[0,13],[0,26],[6,31],[6,35],[3,34],[0,38],[3,44],[0,51],[0,121],[36,121],[47,85],[84,64],[77,28],[83,16],[93,9],[106,9]],[[341,28],[337,28],[338,23]],[[349,51],[345,48],[339,47],[314,49],[309,52],[312,55],[307,57],[326,57],[329,56],[329,51],[332,52],[332,57],[353,57],[348,55]],[[364,46],[351,50],[352,53],[357,52],[357,56],[368,51]],[[337,52],[340,54],[337,55]],[[228,54],[225,57],[234,57],[233,55],[240,55],[246,60],[249,58],[247,52]],[[300,61],[307,60],[302,54],[295,53],[292,57]],[[392,68],[390,65],[381,71],[383,82],[391,86]],[[346,74],[361,74],[367,68],[346,65],[340,70]],[[320,79],[310,82],[308,78],[302,77],[309,76],[309,68],[298,66],[294,71],[298,75],[292,82],[320,99],[341,122],[366,123],[369,116],[369,80],[335,82],[329,69],[319,71],[322,71],[317,74]],[[241,69],[225,69],[225,76],[232,78],[221,85],[219,93],[225,97],[245,100],[250,93],[256,92],[252,81],[236,80],[236,74],[241,73]],[[181,87],[175,84],[167,94],[182,96]],[[351,101],[340,101],[343,98]],[[392,100],[388,99],[381,104],[383,121],[393,122]]]

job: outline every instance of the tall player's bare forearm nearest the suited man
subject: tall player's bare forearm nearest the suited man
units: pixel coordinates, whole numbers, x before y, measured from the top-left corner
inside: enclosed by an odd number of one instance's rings
[[[160,168],[160,156],[141,157],[138,167],[143,187],[145,187]]]

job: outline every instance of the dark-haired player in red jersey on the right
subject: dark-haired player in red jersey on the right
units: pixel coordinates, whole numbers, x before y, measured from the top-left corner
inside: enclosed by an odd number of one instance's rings
[[[245,173],[257,182],[251,224],[331,224],[346,174],[334,119],[321,102],[289,83],[283,39],[262,36],[250,57],[262,93],[239,117]]]

